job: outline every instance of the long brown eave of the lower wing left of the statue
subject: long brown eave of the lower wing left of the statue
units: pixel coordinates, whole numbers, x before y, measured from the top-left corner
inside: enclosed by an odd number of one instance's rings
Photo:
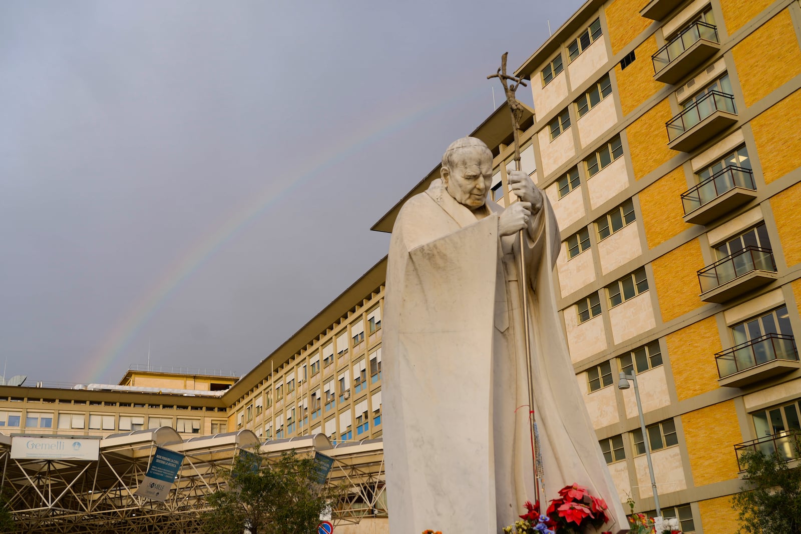
[[[303,347],[312,343],[321,332],[326,331],[333,323],[336,323],[342,315],[360,303],[364,295],[376,291],[387,277],[387,256],[384,256],[378,263],[361,275],[356,282],[352,283],[348,289],[342,291],[336,299],[333,299],[328,306],[324,307],[308,323],[300,327],[292,336],[281,343],[276,350],[272,351],[267,358],[264,358],[253,367],[247,374],[242,376],[223,393],[223,404],[231,407],[242,396],[246,395],[252,387],[256,386],[261,380],[270,374],[271,371],[278,369],[281,365],[288,362],[292,356],[296,355]]]

